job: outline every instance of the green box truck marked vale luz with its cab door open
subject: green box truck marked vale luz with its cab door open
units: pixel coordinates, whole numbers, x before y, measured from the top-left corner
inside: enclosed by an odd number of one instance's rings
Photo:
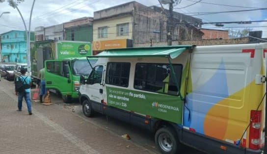
[[[65,103],[78,98],[80,76],[91,70],[87,55],[92,55],[90,42],[46,40],[31,43],[31,76],[33,83],[40,81],[38,72],[45,68],[46,88],[61,94]],[[97,59],[90,59],[93,64]]]

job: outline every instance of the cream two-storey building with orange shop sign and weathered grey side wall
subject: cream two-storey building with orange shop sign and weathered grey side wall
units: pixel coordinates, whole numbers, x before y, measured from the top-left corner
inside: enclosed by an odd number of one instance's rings
[[[167,16],[159,7],[148,7],[136,1],[94,12],[93,53],[110,48],[128,48],[135,44],[167,41]],[[184,23],[201,23],[200,19],[174,13],[174,21],[184,18]],[[176,31],[175,31],[176,30]],[[201,32],[194,25],[174,26],[173,39],[201,39]],[[189,36],[189,37],[185,37]],[[103,47],[103,48],[101,48]]]

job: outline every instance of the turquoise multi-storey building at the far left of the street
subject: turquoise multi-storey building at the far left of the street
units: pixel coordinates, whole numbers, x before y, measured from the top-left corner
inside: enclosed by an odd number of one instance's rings
[[[1,61],[10,63],[27,62],[27,37],[26,32],[11,30],[0,34],[1,36]],[[30,33],[30,41],[34,41],[34,32]]]

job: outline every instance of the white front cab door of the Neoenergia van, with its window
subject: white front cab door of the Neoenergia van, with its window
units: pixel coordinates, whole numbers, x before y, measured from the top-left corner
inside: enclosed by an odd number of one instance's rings
[[[94,110],[102,113],[103,100],[103,70],[105,65],[97,65],[86,81],[87,96],[89,96]]]

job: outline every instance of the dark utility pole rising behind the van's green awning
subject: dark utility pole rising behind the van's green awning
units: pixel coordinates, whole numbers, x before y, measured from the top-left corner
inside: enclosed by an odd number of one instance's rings
[[[173,0],[169,3],[169,13],[167,19],[167,44],[172,45],[172,34],[173,34]]]

